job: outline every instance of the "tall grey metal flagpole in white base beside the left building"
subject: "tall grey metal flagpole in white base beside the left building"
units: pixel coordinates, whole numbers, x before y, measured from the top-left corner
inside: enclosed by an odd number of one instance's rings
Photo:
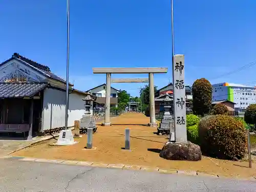
[[[68,129],[68,110],[69,110],[69,0],[67,0],[67,74],[66,74],[66,113],[65,130]]]

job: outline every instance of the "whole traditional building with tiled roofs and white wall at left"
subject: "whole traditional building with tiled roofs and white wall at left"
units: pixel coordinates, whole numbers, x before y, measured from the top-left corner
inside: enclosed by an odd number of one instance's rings
[[[84,92],[70,86],[68,126],[84,114]],[[0,64],[1,130],[32,126],[33,135],[65,126],[66,81],[47,66],[14,53]],[[26,129],[25,129],[26,130]]]

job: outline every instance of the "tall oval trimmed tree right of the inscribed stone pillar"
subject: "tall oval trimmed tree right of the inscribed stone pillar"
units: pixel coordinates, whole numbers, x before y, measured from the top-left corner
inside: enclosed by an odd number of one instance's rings
[[[210,82],[205,79],[197,79],[192,86],[193,93],[193,112],[195,115],[204,116],[211,108],[212,87]]]

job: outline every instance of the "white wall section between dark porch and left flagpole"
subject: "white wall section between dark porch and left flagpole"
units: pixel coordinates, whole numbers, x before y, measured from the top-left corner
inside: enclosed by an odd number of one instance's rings
[[[65,126],[66,93],[47,88],[44,91],[42,131]]]

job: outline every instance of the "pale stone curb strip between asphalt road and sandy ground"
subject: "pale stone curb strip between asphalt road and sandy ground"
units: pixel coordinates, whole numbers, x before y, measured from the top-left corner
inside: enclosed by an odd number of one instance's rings
[[[177,169],[162,169],[158,167],[140,166],[140,165],[125,165],[125,164],[106,164],[99,162],[88,162],[88,161],[72,161],[72,160],[61,160],[61,159],[40,159],[40,158],[28,158],[28,157],[16,157],[16,156],[4,156],[0,159],[16,159],[18,161],[27,162],[43,162],[43,163],[56,163],[56,164],[67,164],[67,165],[80,165],[80,166],[91,166],[91,167],[104,167],[104,168],[117,168],[126,170],[141,170],[145,172],[157,172],[160,174],[172,174],[172,175],[186,175],[186,176],[208,176],[218,178],[218,175],[211,173],[201,173],[193,170],[177,170]]]

